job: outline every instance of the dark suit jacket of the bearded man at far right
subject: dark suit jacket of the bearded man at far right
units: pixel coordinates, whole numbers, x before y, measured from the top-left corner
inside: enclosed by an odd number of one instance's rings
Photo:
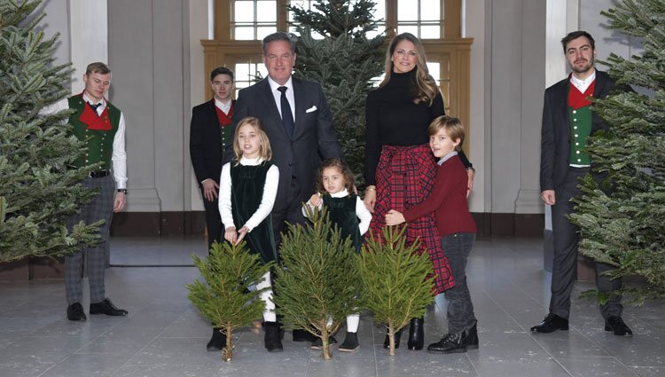
[[[606,72],[596,70],[593,98],[605,98],[616,88]],[[570,122],[568,120],[570,75],[545,90],[540,151],[540,190],[557,190],[570,164]],[[591,114],[591,135],[607,130],[596,113]]]

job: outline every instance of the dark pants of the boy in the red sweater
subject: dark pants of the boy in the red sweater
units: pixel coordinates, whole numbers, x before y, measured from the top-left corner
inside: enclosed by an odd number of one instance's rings
[[[455,233],[441,238],[443,252],[448,256],[455,287],[445,292],[448,301],[448,332],[459,334],[473,326],[473,303],[466,286],[466,260],[473,248],[475,234]]]

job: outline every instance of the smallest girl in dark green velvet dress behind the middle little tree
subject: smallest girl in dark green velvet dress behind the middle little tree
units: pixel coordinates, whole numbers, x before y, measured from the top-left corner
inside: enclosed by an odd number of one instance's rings
[[[312,195],[307,204],[311,208],[328,210],[332,224],[337,224],[342,237],[350,237],[356,253],[360,253],[363,234],[367,232],[372,221],[372,214],[355,193],[353,193],[354,177],[348,166],[339,159],[325,160],[318,169],[317,193]],[[302,211],[307,216],[306,211]],[[353,352],[360,346],[357,332],[360,315],[347,316],[347,335],[340,345],[340,351]],[[318,342],[318,341],[317,341]],[[314,342],[313,349],[322,345]]]

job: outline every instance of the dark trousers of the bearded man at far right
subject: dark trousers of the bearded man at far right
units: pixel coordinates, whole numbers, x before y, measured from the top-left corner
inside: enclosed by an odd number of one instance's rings
[[[556,190],[556,204],[552,206],[552,233],[554,236],[554,260],[552,262],[552,300],[550,312],[559,317],[570,316],[570,295],[577,275],[577,245],[580,241],[579,229],[567,219],[574,212],[573,198],[581,197],[579,178],[584,177],[589,168],[569,168],[563,185]],[[622,287],[621,279],[610,279],[601,275],[614,267],[596,263],[596,284],[600,292],[613,291]],[[621,296],[614,295],[604,305],[600,305],[603,318],[621,316],[623,306]]]

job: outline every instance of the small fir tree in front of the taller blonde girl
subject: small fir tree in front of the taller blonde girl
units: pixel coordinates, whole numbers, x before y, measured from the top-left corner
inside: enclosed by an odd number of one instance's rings
[[[192,259],[205,283],[196,279],[188,284],[187,297],[203,317],[226,334],[222,359],[229,361],[234,355],[233,330],[252,325],[265,310],[265,302],[259,296],[269,288],[250,287],[260,282],[274,263],[263,264],[260,255],[248,253],[245,241],[238,245],[215,242],[206,260],[198,255],[192,255]]]

